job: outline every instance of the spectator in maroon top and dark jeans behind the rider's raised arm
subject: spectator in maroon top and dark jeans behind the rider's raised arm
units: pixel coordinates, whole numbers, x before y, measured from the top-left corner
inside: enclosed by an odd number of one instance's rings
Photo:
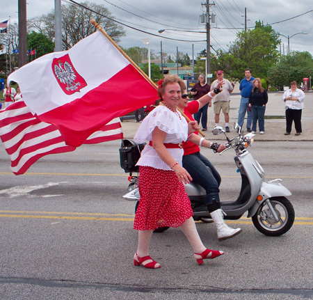
[[[193,95],[193,100],[198,100],[202,96],[207,95],[210,91],[210,86],[205,81],[204,74],[200,74],[198,78],[198,82],[191,88],[191,95]],[[201,109],[199,109],[198,113],[195,113],[194,117],[195,120],[200,125],[200,119],[201,119],[201,125],[202,130],[205,132],[207,131],[207,108],[209,104],[204,105]],[[211,106],[211,105],[210,105]]]

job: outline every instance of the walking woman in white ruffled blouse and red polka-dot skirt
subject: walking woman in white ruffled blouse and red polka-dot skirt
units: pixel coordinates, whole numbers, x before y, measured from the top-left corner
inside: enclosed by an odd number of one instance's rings
[[[171,75],[158,84],[163,101],[143,120],[134,137],[138,143],[147,142],[137,163],[141,200],[134,221],[134,229],[138,230],[134,265],[150,269],[161,267],[150,258],[149,246],[153,230],[165,226],[182,229],[200,265],[203,259],[216,258],[224,252],[209,250],[202,244],[184,189],[184,183],[192,178],[182,167],[182,141],[188,139],[188,129],[194,132],[198,124],[192,121],[188,125],[177,111],[182,90],[186,88],[184,81]]]

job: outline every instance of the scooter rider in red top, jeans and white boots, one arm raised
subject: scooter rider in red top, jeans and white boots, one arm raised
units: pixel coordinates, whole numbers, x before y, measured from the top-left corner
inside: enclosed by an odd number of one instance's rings
[[[183,90],[178,107],[184,111],[188,118],[194,120],[192,114],[196,113],[205,104],[211,102],[211,99],[219,92],[220,90],[217,88],[207,95],[204,95],[199,100],[188,102],[188,94],[186,90]],[[223,211],[220,209],[220,175],[209,159],[200,154],[198,145],[211,148],[214,152],[222,152],[225,150],[225,145],[211,143],[204,138],[200,138],[198,132],[190,136],[188,141],[183,143],[183,166],[193,178],[193,183],[199,184],[206,190],[207,210],[214,220],[214,223],[216,223],[218,240],[223,241],[238,235],[242,230],[240,228],[230,228],[226,225],[223,219]]]

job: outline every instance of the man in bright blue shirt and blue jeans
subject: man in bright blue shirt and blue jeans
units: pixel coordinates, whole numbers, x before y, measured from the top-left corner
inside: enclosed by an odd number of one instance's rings
[[[251,132],[251,123],[252,123],[252,115],[251,111],[249,111],[249,98],[253,88],[254,77],[251,75],[251,70],[245,70],[245,78],[240,81],[240,106],[238,111],[238,125],[240,127],[243,126],[243,121],[245,120],[246,112],[247,112],[247,131]]]

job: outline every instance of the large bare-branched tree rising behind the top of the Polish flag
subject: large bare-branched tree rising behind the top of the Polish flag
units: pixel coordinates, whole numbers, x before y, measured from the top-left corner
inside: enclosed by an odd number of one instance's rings
[[[90,8],[90,10],[74,3],[62,6],[63,49],[70,49],[79,40],[96,31],[95,26],[90,24],[90,19],[95,19],[115,42],[119,42],[120,38],[125,35],[122,26],[107,18],[112,17],[112,15],[103,5],[88,1],[81,3],[81,5]],[[97,13],[93,13],[91,10]],[[31,19],[31,27],[54,41],[54,10],[47,15]]]

